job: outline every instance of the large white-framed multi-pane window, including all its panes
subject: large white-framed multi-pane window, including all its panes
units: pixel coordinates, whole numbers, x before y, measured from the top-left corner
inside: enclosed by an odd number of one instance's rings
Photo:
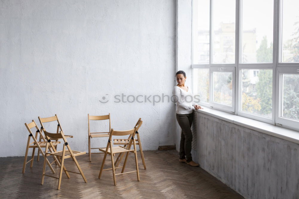
[[[201,105],[299,130],[299,1],[193,0]]]

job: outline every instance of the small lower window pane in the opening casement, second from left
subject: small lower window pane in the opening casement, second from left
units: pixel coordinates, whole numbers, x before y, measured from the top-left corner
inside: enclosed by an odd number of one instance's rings
[[[213,102],[233,105],[232,76],[232,72],[213,72]]]

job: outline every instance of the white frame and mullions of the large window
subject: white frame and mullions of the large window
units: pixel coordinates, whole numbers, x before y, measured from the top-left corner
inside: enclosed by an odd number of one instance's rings
[[[199,102],[200,105],[209,106],[214,109],[221,111],[231,112],[235,115],[242,117],[251,118],[254,120],[270,123],[277,126],[291,128],[299,131],[299,122],[287,118],[280,117],[281,113],[281,76],[282,74],[299,74],[299,63],[286,63],[281,62],[281,33],[282,33],[282,2],[283,0],[274,1],[274,12],[273,12],[273,62],[272,63],[241,63],[241,50],[242,49],[242,0],[236,0],[236,42],[235,42],[235,64],[213,64],[212,63],[212,50],[213,50],[213,30],[212,30],[212,17],[213,17],[213,0],[210,0],[210,60],[209,64],[192,64],[191,68],[209,68],[210,69],[210,102]],[[193,2],[192,2],[193,11]],[[192,63],[193,63],[193,23],[192,23]],[[229,70],[228,68],[234,68],[233,74],[233,107],[222,105],[219,103],[212,102],[213,99],[213,79],[212,72],[217,71],[218,68],[222,68],[222,71]],[[224,70],[223,70],[224,69]],[[272,69],[272,118],[267,118],[255,114],[250,114],[241,111],[242,105],[242,69]],[[237,83],[236,83],[237,82]],[[194,91],[193,91],[194,92]]]

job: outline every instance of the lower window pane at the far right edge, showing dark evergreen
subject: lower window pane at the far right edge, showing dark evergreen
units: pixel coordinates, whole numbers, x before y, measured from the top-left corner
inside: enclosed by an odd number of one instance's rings
[[[299,121],[299,75],[283,74],[282,117]]]

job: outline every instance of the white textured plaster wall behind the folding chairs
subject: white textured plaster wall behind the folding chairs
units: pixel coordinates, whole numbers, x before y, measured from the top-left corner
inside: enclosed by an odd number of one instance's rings
[[[74,150],[87,151],[87,113],[111,113],[118,130],[141,117],[145,150],[173,144],[173,104],[114,103],[112,96],[172,93],[175,4],[0,0],[0,157],[23,156],[24,123],[54,114],[74,135]],[[106,94],[112,99],[100,103]],[[92,139],[106,142],[99,140]]]

